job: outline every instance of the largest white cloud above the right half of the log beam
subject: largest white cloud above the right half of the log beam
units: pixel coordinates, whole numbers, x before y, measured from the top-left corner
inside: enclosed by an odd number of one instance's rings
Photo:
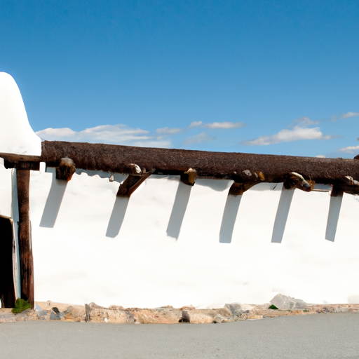
[[[260,136],[256,140],[243,141],[242,144],[247,144],[249,146],[264,146],[280,142],[292,142],[299,140],[330,140],[331,138],[331,135],[323,135],[318,127],[303,128],[301,126],[294,126],[292,130],[280,130],[275,135]]]

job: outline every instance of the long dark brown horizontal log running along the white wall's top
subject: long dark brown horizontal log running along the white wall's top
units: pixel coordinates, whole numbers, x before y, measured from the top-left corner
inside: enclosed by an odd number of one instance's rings
[[[8,161],[15,155],[2,154]],[[39,158],[29,161],[46,162],[58,167],[62,158],[72,158],[76,168],[126,173],[128,163],[136,163],[155,175],[182,175],[189,168],[198,177],[233,179],[237,183],[284,182],[290,172],[321,184],[344,184],[345,176],[359,180],[358,159],[277,156],[233,152],[189,151],[88,144],[81,142],[44,141]]]

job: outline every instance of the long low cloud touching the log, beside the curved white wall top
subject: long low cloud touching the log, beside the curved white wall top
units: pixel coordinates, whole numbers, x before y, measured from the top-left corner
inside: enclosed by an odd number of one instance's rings
[[[43,140],[73,142],[104,142],[109,144],[130,144],[135,146],[169,147],[170,141],[149,135],[141,128],[126,125],[103,125],[86,130],[74,131],[71,128],[46,128],[36,132]]]

